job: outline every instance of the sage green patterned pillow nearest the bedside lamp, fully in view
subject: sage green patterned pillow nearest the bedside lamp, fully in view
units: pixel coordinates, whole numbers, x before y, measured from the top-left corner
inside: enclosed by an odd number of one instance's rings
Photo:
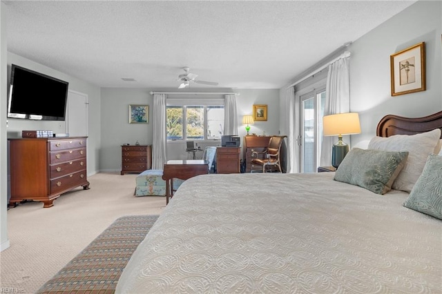
[[[407,151],[353,148],[339,165],[334,179],[361,186],[376,194],[385,194],[392,189],[407,156]]]

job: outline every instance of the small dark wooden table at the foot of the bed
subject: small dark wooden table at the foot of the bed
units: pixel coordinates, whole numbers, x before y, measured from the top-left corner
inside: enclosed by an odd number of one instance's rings
[[[164,164],[162,179],[166,181],[166,205],[173,197],[173,178],[190,179],[209,173],[209,161],[206,160],[169,160]]]

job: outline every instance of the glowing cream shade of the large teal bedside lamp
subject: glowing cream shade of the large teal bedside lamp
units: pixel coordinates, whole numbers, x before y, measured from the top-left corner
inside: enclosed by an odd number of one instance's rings
[[[361,133],[359,115],[356,112],[339,113],[323,117],[323,135],[338,136]]]

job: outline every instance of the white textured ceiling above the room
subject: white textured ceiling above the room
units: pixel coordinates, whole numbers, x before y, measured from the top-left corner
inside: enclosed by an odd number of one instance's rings
[[[415,1],[3,2],[8,51],[100,87],[281,88]]]

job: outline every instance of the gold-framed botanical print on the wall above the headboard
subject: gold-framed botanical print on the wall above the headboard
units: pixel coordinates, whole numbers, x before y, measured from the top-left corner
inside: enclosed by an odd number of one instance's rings
[[[425,42],[390,55],[392,96],[425,91]]]

